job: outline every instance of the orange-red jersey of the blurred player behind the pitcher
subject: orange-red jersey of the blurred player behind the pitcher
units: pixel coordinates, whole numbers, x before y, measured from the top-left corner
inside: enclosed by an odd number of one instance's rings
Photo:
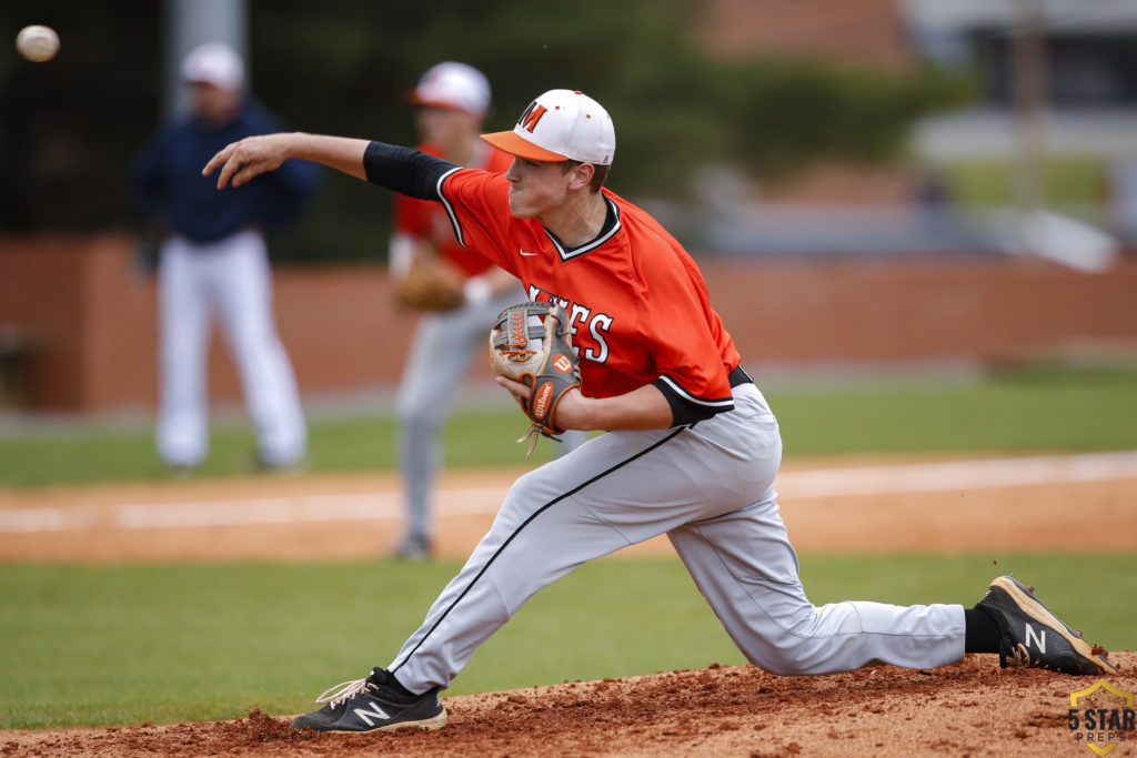
[[[417,150],[441,157],[438,145],[424,143]],[[513,157],[497,148],[481,142],[471,160],[470,168],[505,173]],[[395,231],[430,242],[443,258],[457,266],[467,277],[482,274],[492,264],[475,250],[458,244],[454,227],[442,207],[431,200],[420,200],[405,194],[395,195]]]

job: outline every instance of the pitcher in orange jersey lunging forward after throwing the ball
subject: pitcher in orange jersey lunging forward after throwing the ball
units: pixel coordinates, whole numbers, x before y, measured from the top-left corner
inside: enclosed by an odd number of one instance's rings
[[[324,706],[294,727],[442,726],[439,692],[529,598],[587,560],[657,534],[669,536],[747,659],[771,672],[931,668],[965,652],[1112,670],[1010,577],[972,608],[810,602],[774,491],[778,420],[698,266],[652,216],[604,186],[615,153],[607,111],[579,91],[550,90],[512,131],[483,139],[514,157],[504,175],[381,142],[297,134],[241,141],[205,168],[219,168],[224,188],[306,158],[440,202],[458,241],[516,275],[537,303],[491,325],[503,361],[536,356],[530,370],[498,382],[541,430],[607,432],[517,480],[393,660],[325,692]],[[561,360],[566,355],[573,366]]]

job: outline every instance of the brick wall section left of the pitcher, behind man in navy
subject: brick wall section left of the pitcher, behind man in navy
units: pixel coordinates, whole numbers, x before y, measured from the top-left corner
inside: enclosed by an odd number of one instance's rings
[[[277,325],[301,391],[358,391],[397,381],[415,319],[390,306],[382,267],[283,268],[275,272],[274,284]],[[153,407],[155,277],[134,267],[131,238],[0,240],[0,326],[5,324],[24,343],[16,366],[23,405]],[[216,327],[209,393],[214,400],[241,398]]]

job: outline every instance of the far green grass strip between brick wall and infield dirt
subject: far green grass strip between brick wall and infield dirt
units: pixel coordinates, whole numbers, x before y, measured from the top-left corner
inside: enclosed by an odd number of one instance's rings
[[[766,392],[781,422],[786,456],[863,452],[1036,452],[1137,448],[1137,370],[1063,368],[1003,372],[972,381],[886,382],[854,389]],[[219,425],[197,476],[247,474],[252,438],[246,425]],[[314,419],[316,472],[395,466],[389,416]],[[457,413],[445,434],[453,467],[526,463],[514,440],[525,430],[513,405]],[[534,461],[554,443],[538,444]],[[0,439],[0,486],[28,488],[169,474],[149,427],[83,428]]]

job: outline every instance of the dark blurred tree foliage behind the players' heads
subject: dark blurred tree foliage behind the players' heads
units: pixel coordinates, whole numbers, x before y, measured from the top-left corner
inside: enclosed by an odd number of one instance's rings
[[[616,124],[611,186],[689,198],[706,163],[770,181],[832,156],[886,160],[911,122],[968,97],[935,72],[911,75],[811,61],[715,56],[690,31],[687,0],[250,0],[252,88],[291,127],[414,140],[406,91],[439,60],[489,76],[490,130],[538,93],[580,89]],[[132,223],[127,176],[161,110],[160,6],[9,0],[0,39],[55,25],[48,65],[0,59],[0,225],[89,230]],[[382,257],[390,198],[326,176],[315,211],[277,258]]]

